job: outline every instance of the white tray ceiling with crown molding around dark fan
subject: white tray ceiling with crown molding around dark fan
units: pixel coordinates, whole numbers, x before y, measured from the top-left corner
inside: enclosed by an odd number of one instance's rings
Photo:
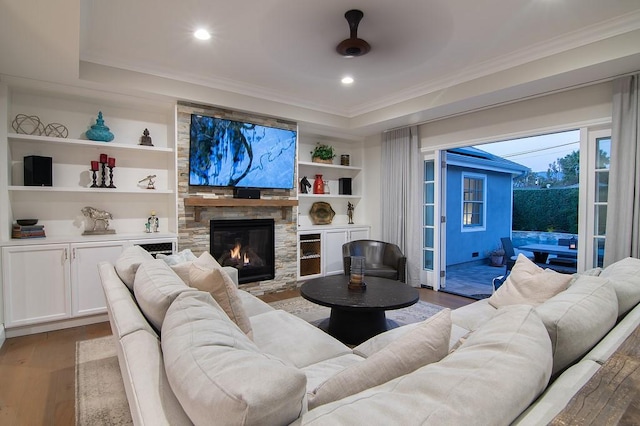
[[[73,84],[73,70],[361,134],[640,69],[639,0],[47,3],[3,0],[0,73]],[[372,49],[343,58],[352,8]],[[211,40],[192,37],[199,26]]]

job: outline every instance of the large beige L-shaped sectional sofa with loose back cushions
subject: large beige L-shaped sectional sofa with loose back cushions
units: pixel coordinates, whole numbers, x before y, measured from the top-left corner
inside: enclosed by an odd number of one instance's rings
[[[543,424],[640,323],[625,259],[543,301],[496,292],[349,348],[207,259],[134,247],[99,265],[135,424]]]

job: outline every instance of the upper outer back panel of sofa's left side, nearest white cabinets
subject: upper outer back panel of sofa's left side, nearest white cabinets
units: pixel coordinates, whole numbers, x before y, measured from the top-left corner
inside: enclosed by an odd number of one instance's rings
[[[114,267],[108,262],[98,264],[98,273],[102,281],[111,332],[118,339],[138,330],[146,330],[157,337],[147,319],[142,315],[133,295],[118,278]]]

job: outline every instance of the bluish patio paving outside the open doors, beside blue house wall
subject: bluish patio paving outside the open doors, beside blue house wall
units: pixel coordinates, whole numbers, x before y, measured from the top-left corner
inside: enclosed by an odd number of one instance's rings
[[[503,275],[505,267],[488,264],[466,263],[447,267],[446,286],[441,291],[453,293],[473,299],[491,296],[491,281]]]

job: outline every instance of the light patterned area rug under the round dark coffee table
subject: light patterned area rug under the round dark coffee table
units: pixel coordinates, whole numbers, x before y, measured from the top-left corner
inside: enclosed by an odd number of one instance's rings
[[[314,325],[318,325],[318,323],[328,318],[331,312],[330,308],[316,305],[302,297],[279,300],[271,302],[269,305],[275,309],[290,312]],[[387,319],[395,321],[398,325],[403,325],[423,321],[442,309],[444,309],[442,306],[419,300],[418,303],[407,308],[386,311],[386,315]]]

